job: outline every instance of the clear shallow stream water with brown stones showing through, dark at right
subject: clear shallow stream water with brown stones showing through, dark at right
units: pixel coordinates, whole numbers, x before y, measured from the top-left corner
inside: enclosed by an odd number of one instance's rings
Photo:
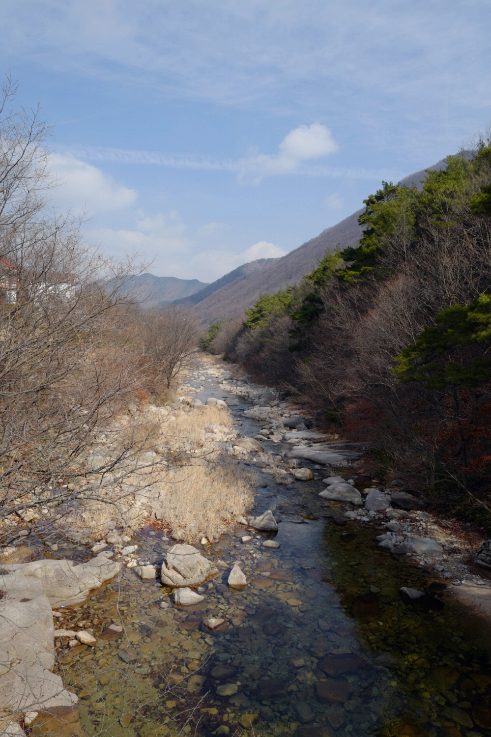
[[[203,403],[226,398],[216,383],[201,392],[195,384]],[[240,399],[231,412],[241,433],[255,436],[261,423],[244,417],[249,407]],[[272,453],[289,447],[265,441]],[[349,470],[341,475],[355,478]],[[434,573],[377,548],[377,521],[342,519],[347,506],[318,497],[323,473],[314,474],[290,486],[260,476],[267,485],[251,514],[281,515],[281,547],[263,548],[271,535],[237,525],[203,551],[228,568],[204,584],[201,604],[175,607],[171,590],[125,567],[63,610],[63,626],[92,626],[98,638],[94,648],[57,648],[55,672],[80,698],[86,735],[491,736],[489,629]],[[132,542],[156,564],[173,545],[153,527]],[[73,550],[61,546],[58,556]],[[235,561],[243,590],[227,585]],[[438,595],[442,609],[408,607],[402,586]],[[102,636],[121,624],[118,608],[125,632]],[[209,616],[226,624],[205,632]]]

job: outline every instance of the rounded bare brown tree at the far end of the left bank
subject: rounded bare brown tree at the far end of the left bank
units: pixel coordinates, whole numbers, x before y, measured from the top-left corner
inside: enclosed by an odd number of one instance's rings
[[[189,310],[173,306],[147,315],[144,323],[145,349],[164,375],[169,388],[197,351],[198,326],[195,316]]]

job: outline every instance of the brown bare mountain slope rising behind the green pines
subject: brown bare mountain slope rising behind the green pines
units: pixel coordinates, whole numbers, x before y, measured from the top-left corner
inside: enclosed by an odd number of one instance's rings
[[[227,281],[222,287],[197,302],[193,308],[203,326],[230,318],[240,318],[244,310],[254,304],[262,293],[277,292],[279,289],[285,289],[290,284],[299,282],[304,274],[316,267],[325,252],[334,250],[337,244],[340,248],[355,245],[361,234],[358,217],[362,212],[364,209],[354,212],[345,220],[341,220],[341,223],[327,228],[316,238],[307,241],[295,251],[290,251],[281,259],[261,259],[268,260],[270,263],[254,270],[248,276],[229,279],[234,274],[231,271],[222,279],[218,279],[218,282],[225,279]],[[236,271],[242,268],[244,267]],[[197,296],[198,293],[194,297]]]

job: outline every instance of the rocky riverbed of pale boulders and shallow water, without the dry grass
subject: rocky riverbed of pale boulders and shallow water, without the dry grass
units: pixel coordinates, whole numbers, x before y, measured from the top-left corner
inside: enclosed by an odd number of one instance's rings
[[[72,553],[75,570],[105,555],[114,577],[90,597],[80,584],[78,598],[50,599],[41,569],[35,592],[27,578],[16,588],[19,615],[38,597],[43,652],[71,711],[20,705],[15,724],[34,735],[53,730],[53,716],[63,733],[115,736],[489,735],[489,629],[455,594],[490,584],[469,572],[459,526],[434,520],[400,483],[366,483],[363,447],[319,436],[238,374],[204,358],[173,412],[229,406],[233,428],[211,434],[223,458],[256,474],[254,506],[192,550],[182,531],[161,529],[153,501],[131,539],[105,530],[93,553],[60,531],[50,555]],[[41,553],[24,547],[10,559]],[[7,568],[4,580],[27,571]],[[12,604],[2,588],[0,606]]]

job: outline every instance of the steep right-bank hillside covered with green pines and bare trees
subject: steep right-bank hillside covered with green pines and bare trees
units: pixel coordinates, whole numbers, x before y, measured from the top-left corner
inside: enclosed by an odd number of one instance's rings
[[[491,139],[419,189],[383,182],[364,203],[357,244],[262,294],[212,349],[289,385],[382,466],[489,520]]]

